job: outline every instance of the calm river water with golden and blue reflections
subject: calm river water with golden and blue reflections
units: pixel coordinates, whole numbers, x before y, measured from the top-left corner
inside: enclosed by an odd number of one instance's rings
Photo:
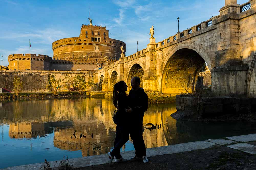
[[[109,152],[114,110],[111,100],[95,98],[0,102],[0,168]],[[148,107],[143,121],[147,148],[256,132],[254,124],[243,122],[177,121],[170,116],[174,112],[175,103]],[[150,130],[147,123],[161,128]],[[134,150],[131,139],[121,149],[129,150]]]

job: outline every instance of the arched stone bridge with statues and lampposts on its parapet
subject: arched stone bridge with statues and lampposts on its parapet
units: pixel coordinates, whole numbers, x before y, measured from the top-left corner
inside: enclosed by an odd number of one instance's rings
[[[138,76],[147,92],[180,94],[194,88],[206,62],[213,94],[256,97],[256,0],[225,0],[219,12],[158,43],[150,38],[147,48],[98,70],[99,90]]]

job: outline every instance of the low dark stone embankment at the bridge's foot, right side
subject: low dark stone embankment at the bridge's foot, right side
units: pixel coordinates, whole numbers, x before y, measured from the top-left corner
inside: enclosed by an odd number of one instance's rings
[[[196,102],[194,97],[176,96],[177,118],[207,118],[222,115],[256,113],[256,98],[204,97]],[[182,117],[180,117],[182,118]]]

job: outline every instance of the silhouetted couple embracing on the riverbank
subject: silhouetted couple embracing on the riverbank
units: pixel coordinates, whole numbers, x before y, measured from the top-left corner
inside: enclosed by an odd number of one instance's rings
[[[140,87],[140,78],[131,79],[132,89],[129,95],[126,95],[127,85],[124,81],[117,82],[113,89],[113,104],[117,108],[114,114],[114,123],[116,124],[116,136],[114,149],[108,152],[108,162],[126,162],[143,160],[148,162],[146,157],[146,147],[142,136],[143,116],[148,108],[148,97],[143,88]],[[129,125],[133,122],[133,125]],[[129,127],[129,128],[128,128]],[[129,140],[131,136],[135,148],[135,156],[130,159],[124,159],[121,156],[120,149]]]

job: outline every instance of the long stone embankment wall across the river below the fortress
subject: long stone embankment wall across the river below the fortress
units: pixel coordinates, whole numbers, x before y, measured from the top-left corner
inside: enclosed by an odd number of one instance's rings
[[[60,77],[64,79],[65,75],[71,77],[82,75],[86,77],[86,81],[94,80],[94,71],[0,70],[0,87],[13,91],[13,79],[20,77],[23,83],[22,91],[47,91],[46,85],[50,75],[54,75],[56,79]]]

